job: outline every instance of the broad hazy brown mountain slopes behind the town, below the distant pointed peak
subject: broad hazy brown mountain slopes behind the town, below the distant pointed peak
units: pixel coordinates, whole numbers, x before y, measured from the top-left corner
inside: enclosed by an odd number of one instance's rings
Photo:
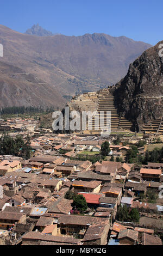
[[[4,49],[4,57],[0,59],[0,74],[10,81],[6,90],[3,83],[2,97],[9,100],[1,101],[1,107],[19,105],[18,101],[13,100],[14,92],[17,88],[23,89],[22,80],[29,84],[28,76],[33,77],[33,84],[36,82],[32,87],[33,93],[38,94],[40,100],[31,99],[28,102],[27,98],[32,96],[30,89],[26,89],[21,104],[39,106],[42,101],[43,104],[47,102],[47,105],[64,106],[75,94],[95,92],[120,81],[129,63],[151,47],[125,36],[116,38],[97,33],[83,36],[35,36],[18,33],[2,25],[0,44],[3,44]],[[5,65],[22,71],[15,71],[17,75],[10,77],[4,69]],[[42,81],[39,82],[39,88],[37,81]],[[41,96],[41,90],[47,92],[46,97]]]

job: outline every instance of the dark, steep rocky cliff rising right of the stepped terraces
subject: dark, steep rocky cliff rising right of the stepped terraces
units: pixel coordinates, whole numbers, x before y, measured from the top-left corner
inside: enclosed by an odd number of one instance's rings
[[[163,114],[163,57],[159,42],[130,64],[114,92],[118,112],[139,131],[143,123]]]

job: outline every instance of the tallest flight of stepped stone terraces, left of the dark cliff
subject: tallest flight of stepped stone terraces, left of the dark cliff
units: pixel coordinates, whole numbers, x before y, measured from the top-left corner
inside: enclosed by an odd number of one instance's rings
[[[98,107],[95,115],[93,115],[92,121],[87,124],[87,130],[91,133],[101,133],[103,130],[108,130],[106,123],[106,112],[111,114],[111,132],[122,132],[124,130],[129,131],[131,123],[124,117],[120,117],[117,113],[117,109],[114,106],[114,96],[109,92],[109,89],[102,89],[97,92]],[[109,117],[109,113],[107,117]],[[101,123],[99,123],[99,119]]]

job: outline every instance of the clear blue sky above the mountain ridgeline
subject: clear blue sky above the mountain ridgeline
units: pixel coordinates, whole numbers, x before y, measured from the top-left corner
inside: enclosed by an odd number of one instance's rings
[[[163,40],[162,0],[5,0],[0,23],[18,32],[39,23],[65,35],[125,35],[155,45]]]

